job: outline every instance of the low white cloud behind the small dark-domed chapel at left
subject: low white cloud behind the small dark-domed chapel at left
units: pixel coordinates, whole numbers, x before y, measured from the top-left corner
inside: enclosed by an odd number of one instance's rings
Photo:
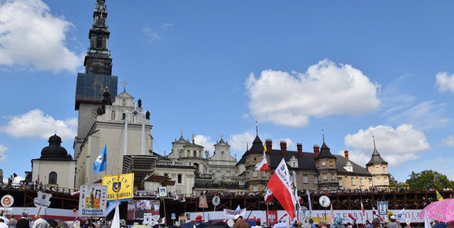
[[[62,140],[69,140],[76,136],[77,119],[54,119],[40,109],[33,109],[26,114],[11,117],[0,130],[16,138],[48,139],[56,133]]]

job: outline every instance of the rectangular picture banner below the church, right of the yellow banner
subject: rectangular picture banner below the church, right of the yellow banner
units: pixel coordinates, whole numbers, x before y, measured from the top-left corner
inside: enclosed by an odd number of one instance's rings
[[[160,200],[131,200],[128,201],[128,220],[145,219],[145,214],[150,214],[150,217],[159,214]]]

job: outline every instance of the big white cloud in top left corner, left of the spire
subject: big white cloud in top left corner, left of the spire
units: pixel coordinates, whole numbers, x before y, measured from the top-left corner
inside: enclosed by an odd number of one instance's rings
[[[66,46],[72,23],[53,16],[41,0],[0,2],[0,65],[75,72],[82,64]]]

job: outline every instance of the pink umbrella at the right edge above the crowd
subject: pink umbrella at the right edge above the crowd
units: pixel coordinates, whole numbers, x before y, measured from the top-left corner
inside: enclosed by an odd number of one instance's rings
[[[447,199],[432,202],[425,207],[419,216],[424,217],[424,212],[427,212],[429,219],[434,219],[440,222],[450,222],[454,220],[454,199]]]

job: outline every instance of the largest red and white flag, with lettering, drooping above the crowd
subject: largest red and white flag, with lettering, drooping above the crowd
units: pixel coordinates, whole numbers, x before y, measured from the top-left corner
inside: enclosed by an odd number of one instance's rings
[[[289,217],[295,217],[295,204],[296,200],[292,190],[292,181],[290,179],[289,169],[284,158],[277,165],[275,173],[271,176],[268,182],[268,188],[273,192],[277,201],[281,204]]]

